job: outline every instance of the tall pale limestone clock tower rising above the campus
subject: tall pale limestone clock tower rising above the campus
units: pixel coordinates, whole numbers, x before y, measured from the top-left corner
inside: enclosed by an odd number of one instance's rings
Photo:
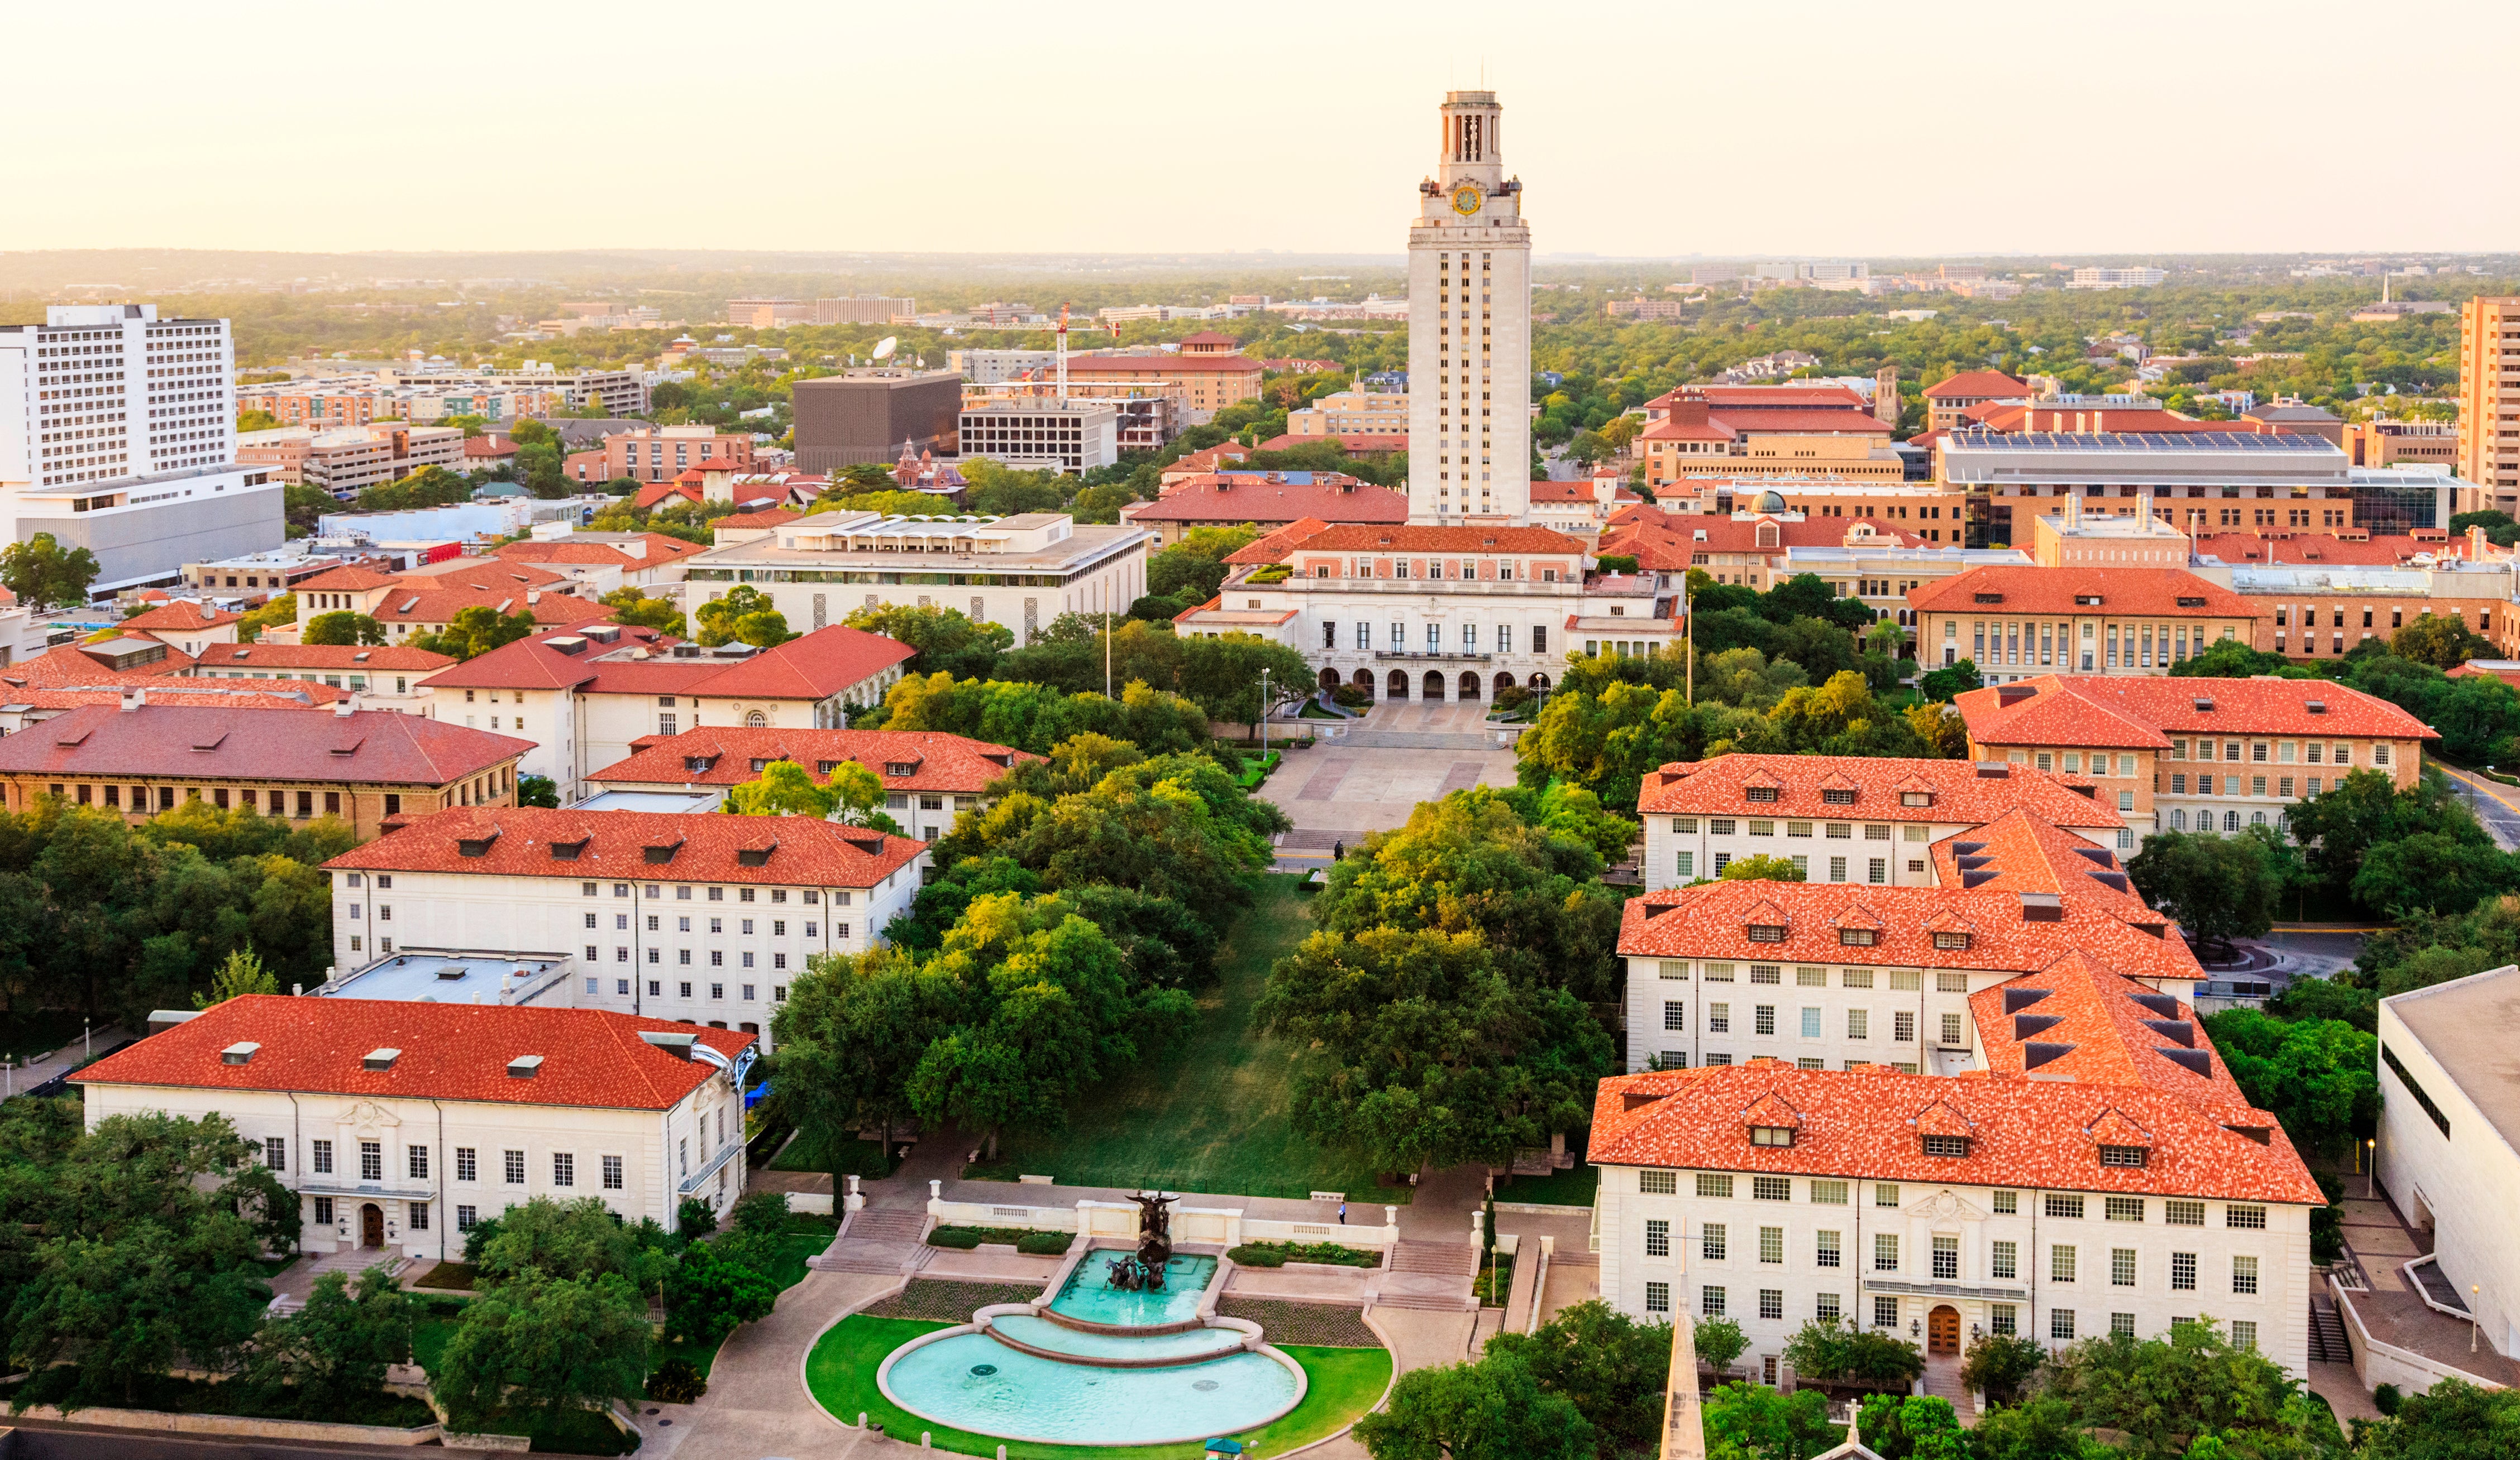
[[[1444,93],[1444,151],[1409,224],[1409,521],[1532,514],[1532,234],[1494,91]]]

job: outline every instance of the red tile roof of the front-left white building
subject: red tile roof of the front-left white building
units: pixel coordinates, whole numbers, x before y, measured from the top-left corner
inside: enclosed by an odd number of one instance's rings
[[[81,1070],[78,1080],[668,1110],[718,1072],[706,1060],[683,1060],[648,1045],[640,1030],[693,1035],[728,1060],[753,1042],[753,1035],[736,1030],[703,1030],[605,1009],[244,994],[149,1035],[118,1055],[106,1055]],[[232,1045],[260,1047],[244,1065],[229,1065],[219,1052]],[[368,1050],[401,1050],[401,1055],[391,1070],[368,1070]],[[542,1055],[532,1080],[507,1072],[509,1060],[522,1055]]]

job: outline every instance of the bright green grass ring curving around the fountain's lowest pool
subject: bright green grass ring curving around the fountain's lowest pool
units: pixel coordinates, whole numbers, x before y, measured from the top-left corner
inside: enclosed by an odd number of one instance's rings
[[[968,1435],[963,1430],[942,1430],[930,1420],[920,1420],[907,1410],[900,1410],[885,1392],[874,1387],[874,1369],[885,1362],[885,1354],[907,1344],[910,1339],[945,1329],[953,1324],[927,1324],[917,1319],[869,1319],[857,1314],[844,1319],[839,1327],[827,1332],[814,1352],[804,1362],[804,1382],[814,1390],[814,1400],[824,1410],[837,1415],[844,1425],[854,1425],[857,1415],[877,1420],[885,1435],[917,1442],[917,1435],[927,1432],[935,1437],[937,1450],[958,1450],[963,1455],[995,1455],[1000,1440],[990,1435]],[[1389,1349],[1313,1349],[1298,1344],[1278,1344],[1290,1359],[1303,1364],[1305,1392],[1303,1402],[1295,1405],[1285,1417],[1263,1425],[1257,1430],[1245,1430],[1235,1435],[1245,1445],[1257,1447],[1263,1455],[1283,1455],[1298,1445],[1310,1445],[1343,1425],[1356,1422],[1358,1415],[1371,1410],[1383,1390],[1391,1384],[1391,1352]],[[1005,1442],[1008,1460],[1200,1460],[1205,1450],[1197,1442],[1189,1445],[1033,1445],[1023,1440]]]

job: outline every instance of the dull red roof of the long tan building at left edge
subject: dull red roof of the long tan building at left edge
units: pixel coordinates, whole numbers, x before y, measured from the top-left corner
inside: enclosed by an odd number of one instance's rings
[[[260,715],[199,705],[93,705],[0,740],[0,773],[446,785],[532,748],[532,740],[393,710]]]

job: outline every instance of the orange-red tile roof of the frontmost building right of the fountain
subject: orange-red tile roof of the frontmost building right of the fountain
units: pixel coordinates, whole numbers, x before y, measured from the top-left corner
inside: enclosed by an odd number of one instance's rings
[[[1799,1118],[1792,1145],[1751,1145],[1744,1115],[1761,1100],[1779,1100]],[[1966,1125],[1968,1155],[1925,1155],[1920,1133],[1928,1120]],[[2099,1145],[2122,1143],[2122,1125],[2147,1135],[2145,1165],[2099,1163]],[[2260,1145],[2235,1125],[2265,1130],[2268,1138]],[[1900,1075],[1887,1065],[1794,1070],[1779,1060],[1751,1060],[1613,1075],[1600,1082],[1593,1103],[1588,1160],[1920,1186],[2323,1203],[2301,1155],[2263,1110],[2197,1105],[2142,1085]]]

